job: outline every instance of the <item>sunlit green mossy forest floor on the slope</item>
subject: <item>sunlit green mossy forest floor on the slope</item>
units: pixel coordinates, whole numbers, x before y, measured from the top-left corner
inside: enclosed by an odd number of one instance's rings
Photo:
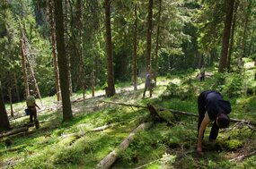
[[[243,87],[255,89],[253,74],[256,70],[252,63],[246,63],[245,68],[246,85]],[[104,97],[104,91],[99,90],[96,97],[87,94],[83,100],[81,93],[75,93],[71,97],[74,119],[69,123],[62,123],[61,106],[54,101],[56,97],[43,98],[43,108],[39,113],[40,129],[31,127],[29,131],[0,139],[0,168],[95,168],[131,131],[144,123],[149,114],[145,108],[119,106],[107,101],[140,106],[151,104],[197,114],[197,96],[201,91],[213,88],[215,72],[207,70],[207,78],[203,82],[197,78],[199,70],[160,77],[153,97],[148,97],[148,91],[146,98],[142,97],[142,81],[137,91],[133,90],[131,83],[118,84],[114,97]],[[255,122],[255,93],[225,96],[225,99],[232,103],[232,118]],[[28,123],[29,117],[23,115],[25,103],[15,104],[13,108],[12,126],[18,128]],[[150,129],[137,133],[128,148],[119,152],[111,168],[255,167],[255,126],[232,123],[228,129],[219,132],[216,145],[207,142],[208,128],[204,156],[198,156],[195,152],[197,118],[186,115],[174,117],[170,111],[162,114],[170,123],[154,123]],[[107,127],[95,130],[102,126]]]

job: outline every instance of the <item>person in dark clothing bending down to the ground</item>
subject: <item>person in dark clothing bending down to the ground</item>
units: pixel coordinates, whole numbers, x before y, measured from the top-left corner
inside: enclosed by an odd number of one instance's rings
[[[231,112],[229,101],[225,101],[222,95],[215,90],[203,91],[198,98],[199,123],[198,123],[198,148],[202,155],[202,139],[207,125],[214,121],[210,131],[209,141],[215,143],[220,128],[228,127],[230,119],[227,114]]]

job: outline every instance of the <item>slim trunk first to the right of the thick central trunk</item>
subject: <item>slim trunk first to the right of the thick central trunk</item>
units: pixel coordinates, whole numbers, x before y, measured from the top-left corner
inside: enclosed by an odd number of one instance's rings
[[[135,21],[133,30],[133,87],[137,90],[137,4],[134,7]]]

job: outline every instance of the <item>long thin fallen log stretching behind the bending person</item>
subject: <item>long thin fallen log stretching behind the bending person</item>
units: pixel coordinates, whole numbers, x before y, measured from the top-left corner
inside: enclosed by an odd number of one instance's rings
[[[120,106],[135,106],[137,108],[146,108],[146,109],[148,108],[148,106],[124,104],[124,103],[119,103],[119,102],[110,102],[110,101],[102,101],[102,102],[109,103],[109,104],[116,104],[116,105],[120,105]],[[157,111],[170,111],[172,114],[181,114],[181,115],[189,115],[189,116],[193,116],[193,117],[199,117],[198,114],[194,114],[194,113],[190,113],[190,112],[182,112],[182,111],[168,109],[168,108],[157,108],[156,110]],[[246,124],[251,124],[251,125],[256,126],[255,122],[250,122],[250,121],[243,120],[243,119],[230,118],[230,122],[233,122],[233,123],[246,123]]]

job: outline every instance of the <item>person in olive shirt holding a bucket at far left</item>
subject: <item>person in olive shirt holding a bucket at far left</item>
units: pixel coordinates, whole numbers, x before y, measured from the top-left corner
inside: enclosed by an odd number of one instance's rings
[[[30,96],[27,97],[26,100],[28,109],[30,111],[30,123],[35,123],[36,128],[40,128],[40,123],[38,120],[38,115],[37,115],[37,108],[36,106],[40,109],[40,107],[36,104],[36,98],[34,97],[34,91],[30,90]]]

